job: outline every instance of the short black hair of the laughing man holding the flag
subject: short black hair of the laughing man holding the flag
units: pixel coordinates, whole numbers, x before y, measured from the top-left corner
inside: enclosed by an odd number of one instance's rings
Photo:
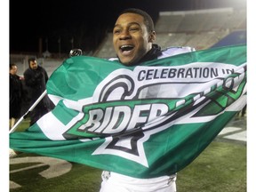
[[[154,22],[151,18],[151,16],[148,14],[148,12],[145,12],[143,10],[140,10],[140,9],[137,9],[137,8],[128,8],[128,9],[125,9],[124,11],[120,12],[118,14],[118,16],[124,14],[124,13],[127,13],[127,12],[132,12],[132,13],[136,13],[136,14],[140,14],[143,19],[144,19],[144,23],[148,29],[148,32],[152,32],[152,31],[155,31],[155,26],[154,26]]]

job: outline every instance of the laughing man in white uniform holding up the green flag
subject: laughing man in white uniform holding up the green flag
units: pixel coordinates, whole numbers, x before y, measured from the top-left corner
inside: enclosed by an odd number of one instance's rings
[[[195,51],[191,47],[170,47],[161,50],[158,44],[154,44],[155,40],[154,22],[148,13],[135,8],[126,9],[119,14],[113,29],[113,45],[117,58],[110,60],[118,60],[125,66],[136,66],[144,61]],[[156,87],[153,89],[157,92]],[[152,90],[148,88],[147,92]],[[145,95],[148,95],[147,92]],[[103,171],[100,192],[175,192],[175,180],[176,174],[138,179],[116,172]]]

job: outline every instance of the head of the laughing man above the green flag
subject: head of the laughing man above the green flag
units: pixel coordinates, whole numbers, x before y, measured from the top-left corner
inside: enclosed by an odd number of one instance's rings
[[[113,44],[117,57],[124,65],[134,65],[152,49],[156,39],[153,20],[148,15],[140,15],[136,12],[124,12],[116,20],[113,29]],[[155,58],[160,49],[154,47]]]

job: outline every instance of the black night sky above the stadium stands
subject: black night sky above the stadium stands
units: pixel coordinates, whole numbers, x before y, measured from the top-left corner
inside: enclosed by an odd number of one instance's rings
[[[38,52],[40,37],[43,52],[46,39],[49,52],[58,52],[59,38],[61,52],[69,52],[72,36],[74,47],[84,51],[95,49],[106,31],[111,31],[116,14],[128,7],[141,8],[156,20],[159,11],[228,7],[244,1],[93,0],[89,4],[86,0],[10,0],[10,52]]]

